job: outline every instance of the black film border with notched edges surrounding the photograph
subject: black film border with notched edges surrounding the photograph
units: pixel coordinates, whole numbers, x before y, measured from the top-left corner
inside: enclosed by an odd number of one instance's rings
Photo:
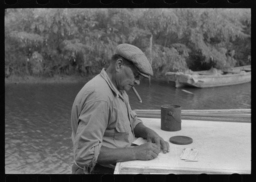
[[[79,4],[71,4],[69,2],[74,2]],[[15,3],[16,2],[16,3]],[[48,3],[47,3],[48,2]],[[175,2],[175,3],[173,3]],[[202,3],[197,3],[202,2]],[[207,3],[203,3],[207,2]],[[230,3],[238,2],[238,3]],[[40,4],[41,3],[41,4]],[[103,4],[105,3],[105,4]],[[43,4],[43,5],[42,5]],[[251,50],[255,50],[255,20],[256,17],[256,0],[3,0],[2,1],[2,25],[4,28],[4,12],[6,8],[251,8]],[[254,32],[254,33],[253,33]],[[4,34],[2,34],[4,45]],[[4,49],[3,49],[3,59],[4,59]],[[251,55],[255,57],[255,51],[251,51]],[[253,68],[253,62],[251,63]],[[3,62],[4,67],[4,62]],[[4,72],[3,72],[4,74]],[[252,73],[252,76],[254,74]],[[253,84],[253,79],[251,80]],[[252,90],[253,91],[253,87]],[[253,92],[251,92],[253,93]],[[253,94],[251,95],[253,99]],[[3,99],[4,102],[4,99]],[[253,104],[253,103],[252,103]],[[251,107],[252,113],[253,107]],[[252,115],[252,118],[253,115]],[[253,119],[252,119],[253,120]],[[2,142],[5,142],[5,125],[2,122]],[[256,154],[254,140],[255,138],[255,124],[251,123],[251,139],[252,145],[251,154]],[[5,147],[2,144],[3,154],[5,153]],[[253,182],[256,177],[254,174],[253,161],[255,157],[251,156],[251,174],[250,175],[74,175],[74,174],[5,174],[3,172],[3,181],[5,182],[104,182],[104,181],[115,181],[115,182],[128,182],[128,181],[139,181],[139,182],[164,182],[164,181],[179,181],[179,182],[233,182],[233,181],[243,181],[243,182]],[[3,155],[4,159],[4,155]],[[254,159],[254,160],[253,160]],[[3,160],[4,161],[4,160]],[[5,171],[5,163],[3,162],[3,171]],[[70,167],[71,169],[71,167]]]

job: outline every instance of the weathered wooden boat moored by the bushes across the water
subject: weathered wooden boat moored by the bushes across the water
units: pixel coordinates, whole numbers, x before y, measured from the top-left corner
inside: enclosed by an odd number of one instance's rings
[[[198,88],[219,87],[251,82],[251,65],[234,67],[229,70],[210,70],[193,72],[166,72],[167,82],[175,82],[175,87],[193,86]]]

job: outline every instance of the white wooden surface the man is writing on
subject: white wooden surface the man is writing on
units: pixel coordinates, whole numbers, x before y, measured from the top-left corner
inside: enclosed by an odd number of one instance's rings
[[[184,135],[193,143],[169,142],[170,152],[161,150],[153,160],[118,162],[114,174],[251,174],[251,123],[182,120],[180,131],[167,132],[160,129],[161,119],[141,119],[167,142]],[[184,147],[198,150],[197,162],[179,158]]]

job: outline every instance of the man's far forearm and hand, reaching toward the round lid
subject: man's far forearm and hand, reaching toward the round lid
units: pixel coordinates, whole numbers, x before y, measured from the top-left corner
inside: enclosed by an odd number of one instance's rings
[[[155,143],[159,150],[160,148],[163,149],[164,154],[170,151],[168,142],[164,141],[164,139],[162,139],[162,137],[160,137],[156,132],[149,129],[142,123],[139,123],[135,126],[134,134],[136,137],[142,137],[144,139],[147,139],[147,142]]]

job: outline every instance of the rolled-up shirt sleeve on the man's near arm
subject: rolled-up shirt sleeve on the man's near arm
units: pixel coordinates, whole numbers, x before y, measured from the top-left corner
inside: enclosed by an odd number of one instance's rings
[[[102,139],[110,118],[105,101],[86,103],[78,118],[74,140],[74,159],[77,165],[91,172],[97,163]]]

